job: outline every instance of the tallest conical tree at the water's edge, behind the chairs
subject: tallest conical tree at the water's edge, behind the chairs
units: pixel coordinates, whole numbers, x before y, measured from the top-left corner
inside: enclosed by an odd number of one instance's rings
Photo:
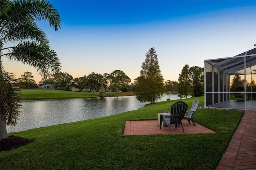
[[[146,59],[142,63],[140,77],[135,79],[135,95],[138,101],[155,103],[164,95],[164,79],[158,65],[155,48],[151,48],[145,54]]]

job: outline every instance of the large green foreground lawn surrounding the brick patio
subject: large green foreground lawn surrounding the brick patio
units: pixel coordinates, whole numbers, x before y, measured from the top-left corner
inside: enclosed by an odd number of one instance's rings
[[[198,99],[203,105],[204,97]],[[182,99],[188,107],[193,100]],[[122,135],[126,121],[156,120],[157,113],[170,110],[176,101],[158,102],[108,117],[10,133],[34,142],[1,152],[0,169],[214,170],[243,111],[198,109],[194,120],[216,132],[212,134]]]

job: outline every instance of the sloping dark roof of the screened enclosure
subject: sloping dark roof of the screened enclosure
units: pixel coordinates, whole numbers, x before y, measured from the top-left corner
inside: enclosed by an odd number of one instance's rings
[[[244,61],[246,61],[245,65]],[[213,65],[228,75],[244,75],[244,67],[246,67],[246,74],[255,74],[256,71],[252,70],[256,70],[256,48],[234,57],[207,59],[204,62]]]

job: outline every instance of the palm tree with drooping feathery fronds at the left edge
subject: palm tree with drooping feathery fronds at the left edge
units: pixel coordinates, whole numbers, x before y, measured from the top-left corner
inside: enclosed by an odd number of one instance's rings
[[[55,31],[61,25],[58,11],[46,0],[0,0],[0,139],[8,138],[6,125],[16,124],[20,106],[13,75],[4,70],[2,57],[28,64],[44,77],[60,72],[60,61],[38,20],[49,22]]]

